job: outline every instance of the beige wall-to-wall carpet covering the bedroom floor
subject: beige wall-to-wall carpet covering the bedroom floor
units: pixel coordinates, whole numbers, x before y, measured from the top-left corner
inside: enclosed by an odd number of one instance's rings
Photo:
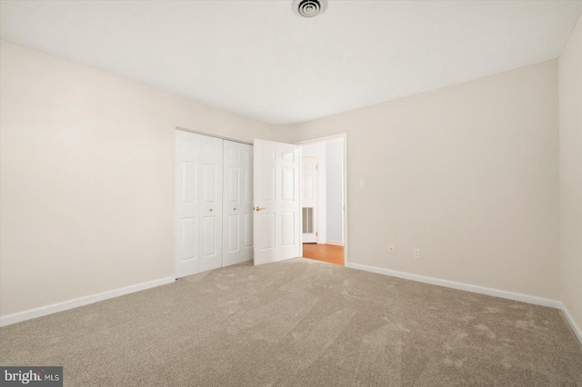
[[[305,259],[4,327],[0,364],[75,386],[582,386],[557,310]]]

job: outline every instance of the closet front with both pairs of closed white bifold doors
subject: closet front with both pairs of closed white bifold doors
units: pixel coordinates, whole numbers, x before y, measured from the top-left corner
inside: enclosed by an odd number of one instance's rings
[[[176,130],[176,278],[253,259],[253,146]]]

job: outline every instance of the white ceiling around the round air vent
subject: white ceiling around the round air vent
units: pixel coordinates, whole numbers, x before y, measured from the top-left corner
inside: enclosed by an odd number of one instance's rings
[[[269,124],[560,55],[582,1],[3,1],[2,39]]]

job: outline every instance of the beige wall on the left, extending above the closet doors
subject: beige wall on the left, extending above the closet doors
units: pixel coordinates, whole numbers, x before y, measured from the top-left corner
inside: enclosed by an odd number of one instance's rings
[[[0,314],[174,275],[175,126],[278,131],[1,45]]]

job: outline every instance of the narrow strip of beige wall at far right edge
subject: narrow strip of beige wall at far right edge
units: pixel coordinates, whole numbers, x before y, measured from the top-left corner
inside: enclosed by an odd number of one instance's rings
[[[582,18],[558,68],[562,302],[582,329]]]

